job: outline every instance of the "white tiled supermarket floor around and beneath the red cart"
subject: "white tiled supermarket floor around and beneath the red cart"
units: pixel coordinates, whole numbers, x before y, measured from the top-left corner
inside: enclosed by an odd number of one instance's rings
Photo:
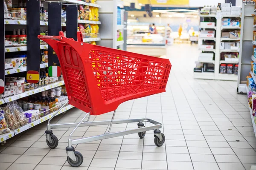
[[[256,164],[247,96],[236,94],[236,82],[193,79],[198,47],[174,45],[167,49],[172,71],[166,93],[128,101],[119,106],[116,119],[149,117],[163,122],[166,142],[154,145],[152,131],[78,144],[84,163],[70,167],[65,147],[72,128],[54,130],[56,149],[45,142],[46,123],[15,136],[0,147],[0,170],[250,170]],[[84,113],[76,108],[54,122],[78,122]],[[111,113],[91,116],[111,119]],[[112,130],[137,127],[113,125]],[[75,138],[102,134],[106,126],[79,127]],[[76,137],[75,137],[76,136]]]

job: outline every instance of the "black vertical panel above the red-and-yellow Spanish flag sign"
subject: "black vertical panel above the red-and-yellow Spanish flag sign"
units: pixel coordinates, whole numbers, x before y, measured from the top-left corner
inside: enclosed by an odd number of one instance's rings
[[[27,0],[27,71],[40,73],[40,4],[39,0]]]

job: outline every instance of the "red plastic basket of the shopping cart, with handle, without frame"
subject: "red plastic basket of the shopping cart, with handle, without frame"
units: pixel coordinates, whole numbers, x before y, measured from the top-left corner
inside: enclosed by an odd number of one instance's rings
[[[77,37],[38,35],[58,56],[70,105],[99,115],[127,100],[165,92],[169,59],[83,43],[81,32]]]

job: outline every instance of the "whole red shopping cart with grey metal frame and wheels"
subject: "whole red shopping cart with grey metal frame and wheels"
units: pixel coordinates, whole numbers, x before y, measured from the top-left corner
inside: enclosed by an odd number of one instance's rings
[[[46,142],[50,148],[58,145],[58,139],[53,135],[52,129],[75,127],[70,133],[66,147],[67,161],[71,166],[78,167],[83,162],[83,156],[74,150],[74,144],[132,133],[138,133],[139,137],[143,138],[145,131],[154,130],[154,143],[157,146],[163,145],[165,136],[159,130],[162,123],[148,118],[113,119],[116,108],[122,102],[165,92],[171,70],[169,59],[87,44],[83,42],[81,32],[77,33],[78,41],[64,37],[63,32],[60,32],[59,36],[38,35],[38,38],[47,42],[58,56],[69,104],[87,113],[79,123],[51,125],[50,121],[54,115],[47,124]],[[110,111],[114,111],[111,120],[89,122],[90,115]],[[57,113],[58,111],[55,114]],[[84,121],[87,116],[87,121]],[[138,128],[111,133],[113,124],[132,122],[138,122]],[[150,122],[153,125],[145,127],[143,122]],[[109,125],[108,131],[98,136],[71,139],[79,126],[95,125]]]

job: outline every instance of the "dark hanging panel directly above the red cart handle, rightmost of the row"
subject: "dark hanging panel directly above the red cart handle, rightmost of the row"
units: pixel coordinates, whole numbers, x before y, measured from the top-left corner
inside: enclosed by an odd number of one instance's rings
[[[67,38],[73,38],[77,41],[77,5],[70,5],[67,6],[67,21],[66,21],[66,32],[67,32]]]

